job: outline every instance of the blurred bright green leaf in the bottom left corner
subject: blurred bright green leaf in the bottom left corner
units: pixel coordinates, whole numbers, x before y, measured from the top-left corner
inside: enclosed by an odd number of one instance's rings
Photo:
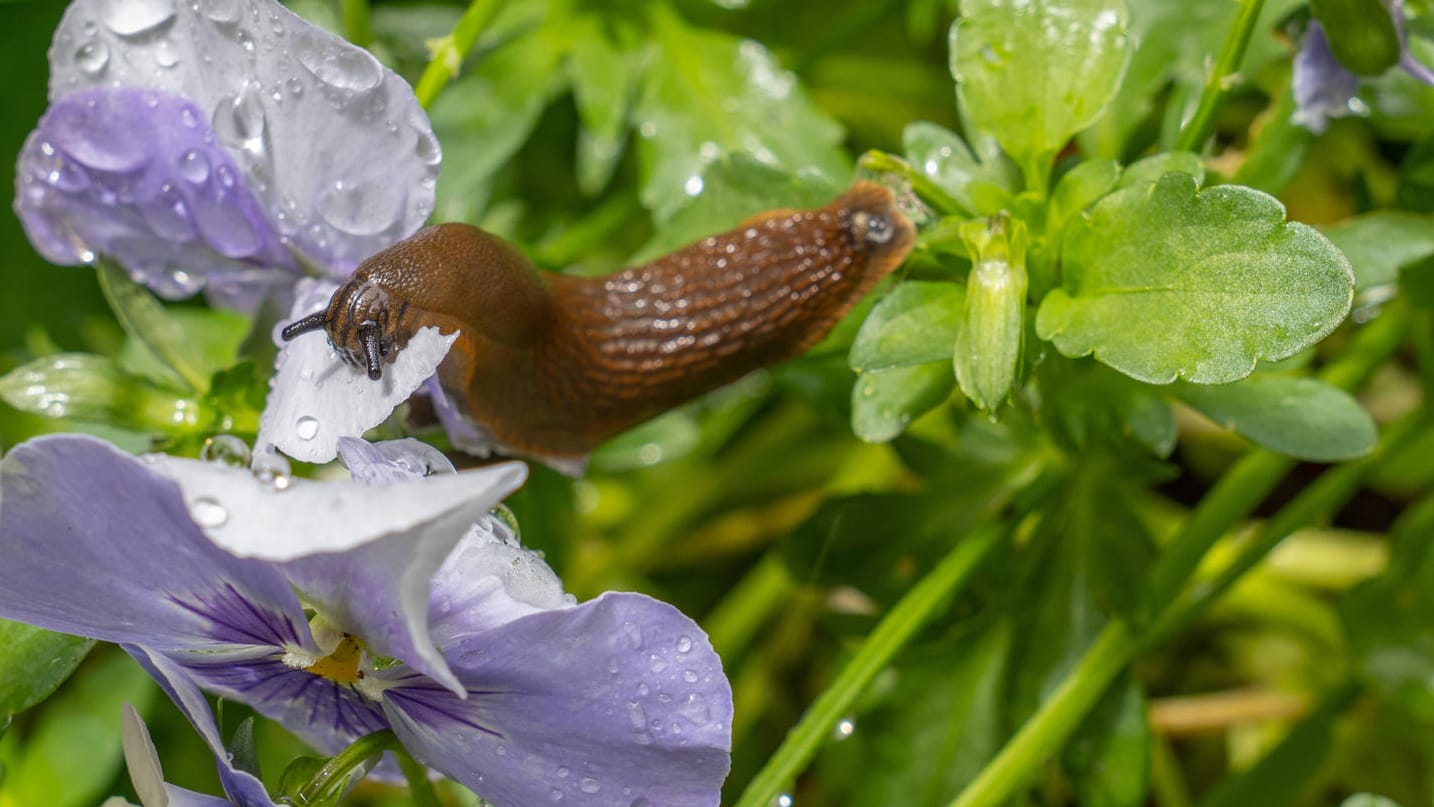
[[[0,804],[98,804],[119,771],[120,707],[143,712],[156,691],[128,655],[98,655],[39,712],[0,783]]]

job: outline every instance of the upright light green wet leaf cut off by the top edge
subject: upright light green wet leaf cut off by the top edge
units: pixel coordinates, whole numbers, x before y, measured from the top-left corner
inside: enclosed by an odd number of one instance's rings
[[[1116,95],[1126,23],[1121,0],[962,0],[951,75],[964,115],[1030,176]]]

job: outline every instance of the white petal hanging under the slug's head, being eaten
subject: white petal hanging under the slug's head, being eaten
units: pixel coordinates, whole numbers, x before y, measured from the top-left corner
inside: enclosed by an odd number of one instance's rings
[[[321,310],[333,288],[301,281],[287,323]],[[257,444],[272,444],[308,463],[327,463],[337,456],[340,437],[363,436],[409,400],[437,371],[456,338],[457,331],[442,335],[433,327],[419,328],[377,381],[344,364],[323,331],[282,343]]]

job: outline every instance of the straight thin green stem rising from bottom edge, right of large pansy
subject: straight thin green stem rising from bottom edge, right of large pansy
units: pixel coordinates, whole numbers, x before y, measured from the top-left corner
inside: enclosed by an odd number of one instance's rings
[[[916,631],[942,603],[971,579],[987,553],[999,543],[1005,530],[995,525],[978,527],[967,535],[928,573],[911,588],[901,602],[876,625],[836,681],[807,708],[802,720],[787,732],[782,747],[743,791],[736,807],[767,807],[784,787],[790,787],[797,773],[812,760],[832,728],[847,714],[852,702],[886,668],[896,651],[903,648]]]

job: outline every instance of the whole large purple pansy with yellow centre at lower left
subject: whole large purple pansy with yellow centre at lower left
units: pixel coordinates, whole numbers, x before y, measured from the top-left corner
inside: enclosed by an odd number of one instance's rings
[[[0,616],[122,644],[211,747],[201,688],[323,753],[393,730],[498,807],[717,804],[731,689],[695,624],[642,595],[575,605],[486,516],[521,464],[344,459],[374,483],[24,443],[0,462]]]

